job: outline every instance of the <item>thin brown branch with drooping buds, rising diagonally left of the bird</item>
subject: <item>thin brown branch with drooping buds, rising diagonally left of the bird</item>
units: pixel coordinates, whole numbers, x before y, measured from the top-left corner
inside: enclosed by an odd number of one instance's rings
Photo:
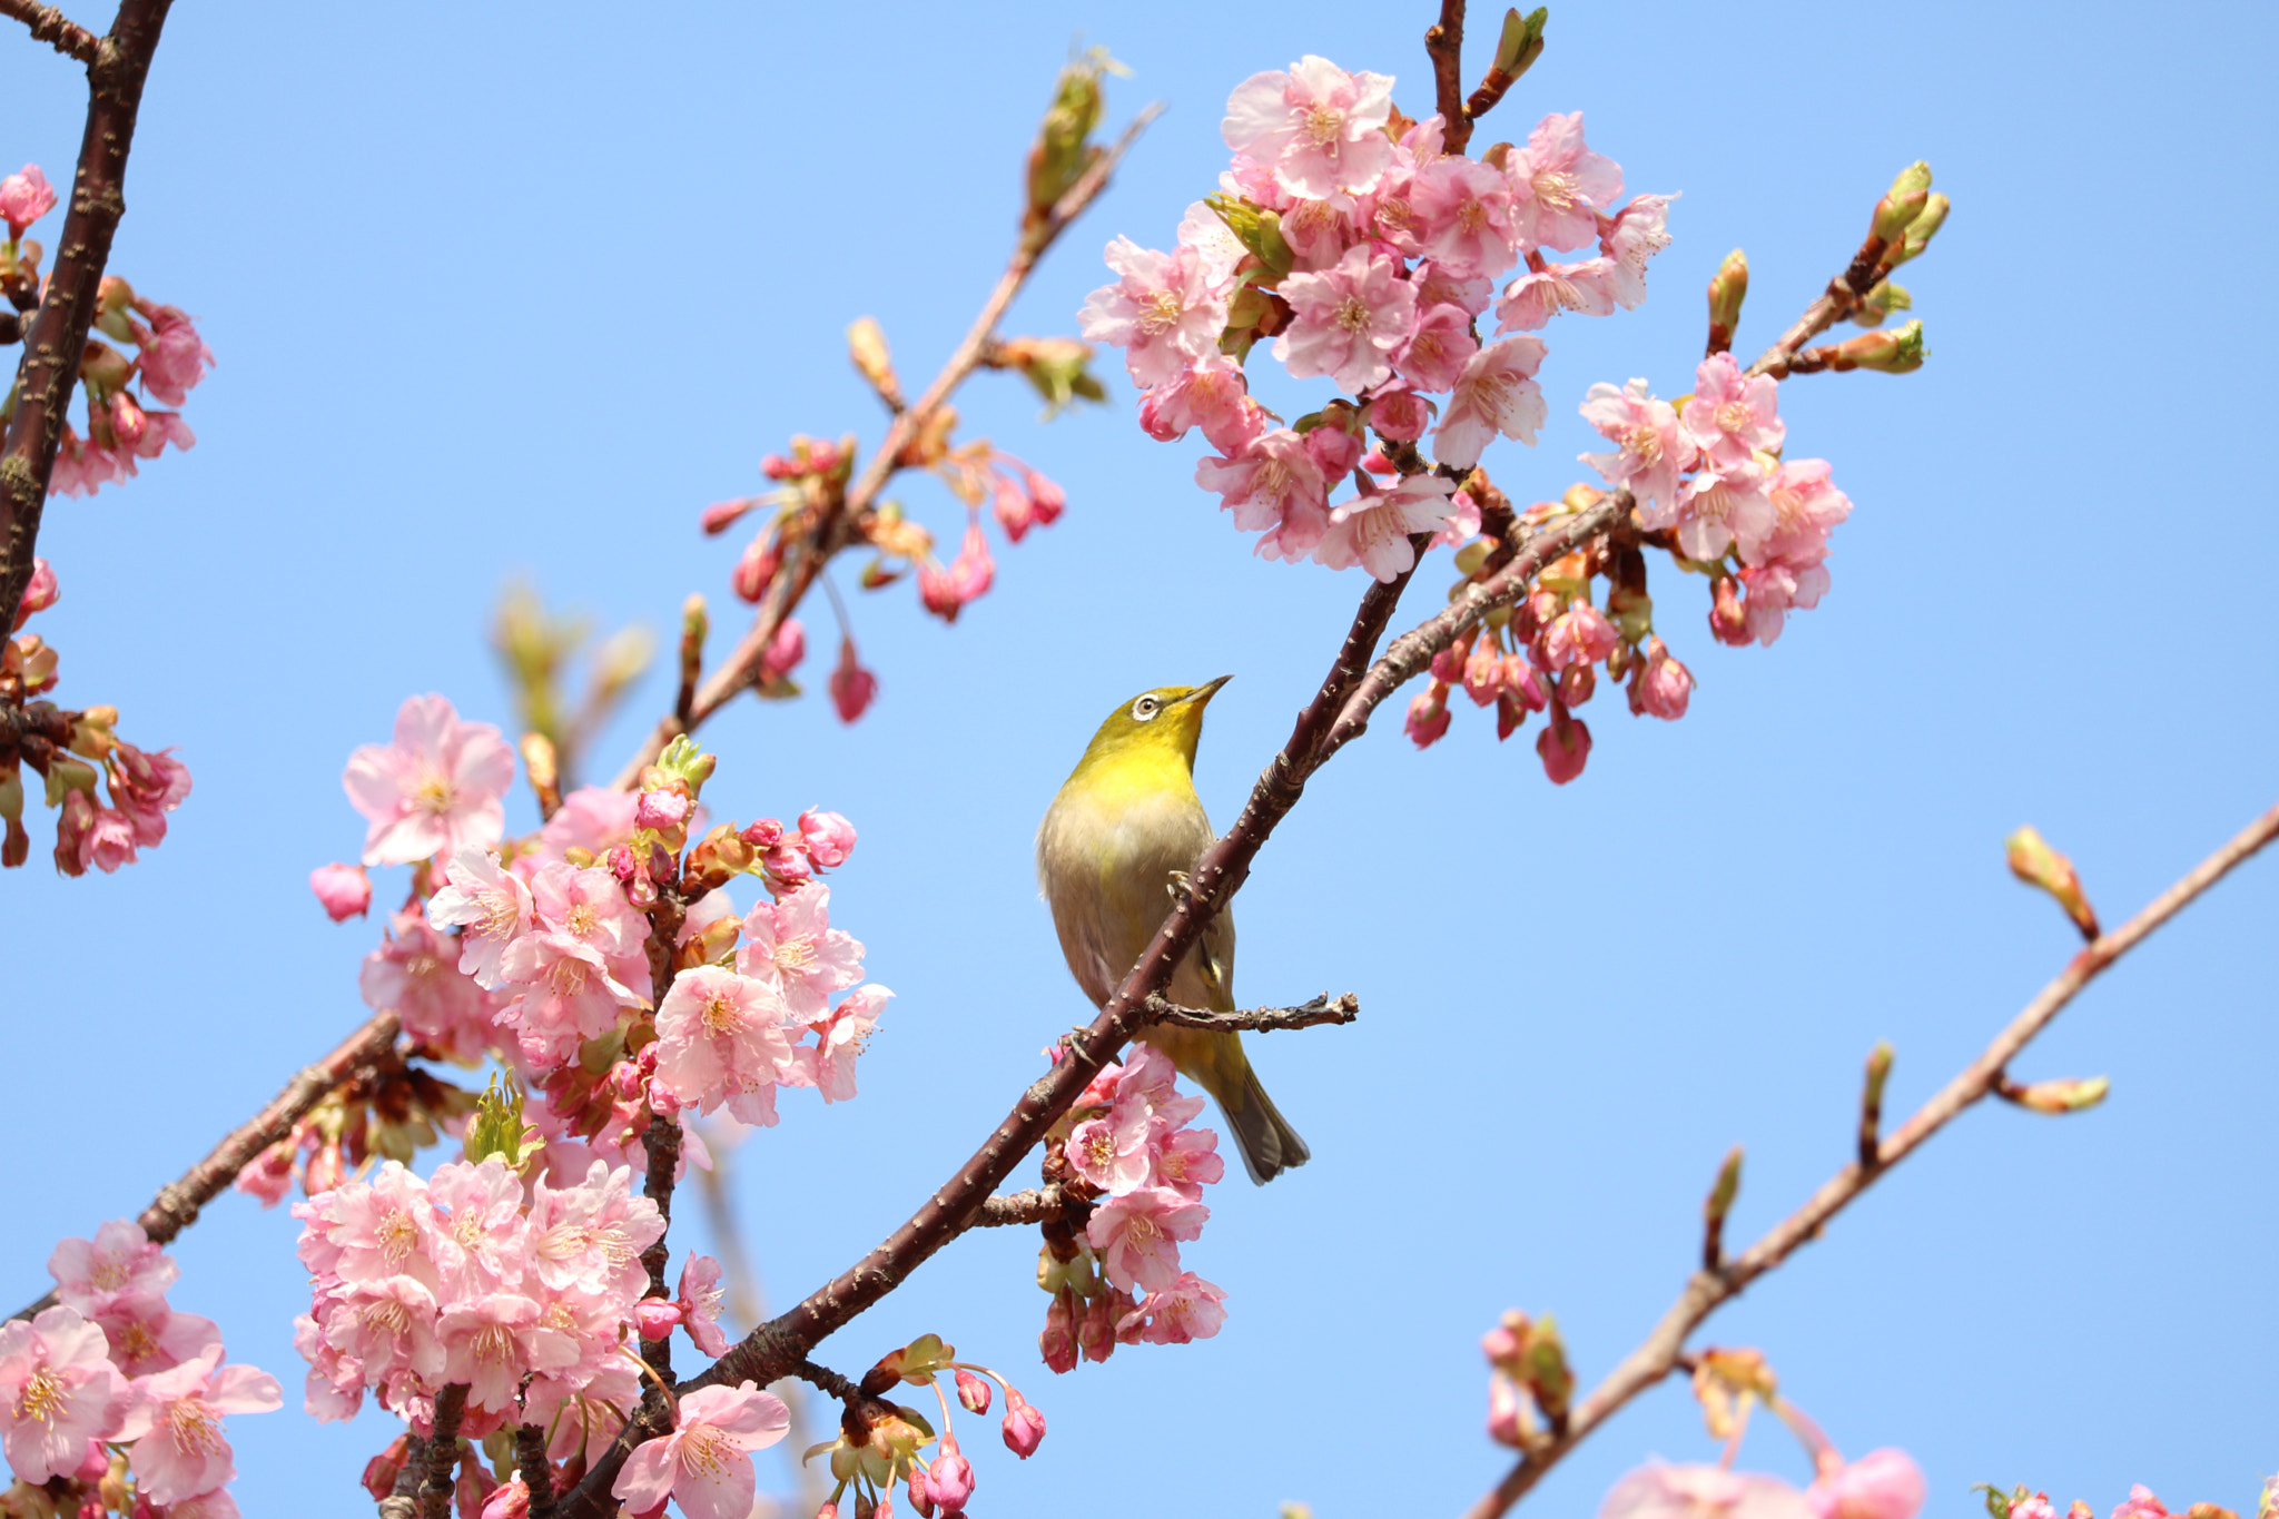
[[[980,314],[973,319],[973,326],[966,328],[964,339],[950,353],[948,362],[941,364],[932,385],[925,387],[925,394],[918,396],[916,403],[896,412],[893,421],[887,426],[887,437],[880,440],[877,451],[871,453],[861,474],[857,474],[848,485],[846,496],[832,510],[823,512],[802,540],[786,551],[784,567],[777,572],[775,583],[759,604],[752,626],[736,642],[736,649],[704,679],[702,685],[697,685],[686,715],[675,713],[663,717],[650,738],[643,740],[640,752],[631,758],[631,763],[627,763],[624,770],[618,772],[620,790],[634,786],[640,777],[640,767],[654,761],[665,745],[681,733],[693,733],[706,717],[734,701],[748,685],[752,685],[752,681],[759,679],[775,633],[784,626],[784,619],[798,610],[800,599],[807,597],[830,558],[852,542],[852,524],[877,503],[877,494],[887,487],[887,481],[902,469],[902,451],[925,433],[934,412],[941,410],[950,394],[980,367],[982,358],[989,353],[989,344],[996,339],[996,326],[1005,319],[1005,310],[1012,305],[1014,296],[1021,294],[1028,276],[1037,269],[1037,260],[1044,257],[1053,241],[1085,212],[1085,207],[1098,200],[1101,191],[1108,189],[1108,180],[1117,164],[1124,162],[1130,146],[1140,141],[1140,132],[1144,132],[1146,125],[1160,114],[1162,107],[1151,105],[1133,116],[1130,125],[1124,128],[1124,137],[1119,137],[1112,148],[1101,153],[1092,166],[1085,169],[1076,184],[1071,184],[1069,191],[1053,203],[1053,210],[1042,221],[1021,232],[1012,257],[1005,262],[1005,273],[998,276],[996,289],[991,289],[989,298],[982,301]]]

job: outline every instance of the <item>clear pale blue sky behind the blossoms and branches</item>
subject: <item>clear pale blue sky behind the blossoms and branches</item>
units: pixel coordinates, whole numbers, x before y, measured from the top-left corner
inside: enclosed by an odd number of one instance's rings
[[[695,512],[759,487],[793,430],[877,437],[848,319],[932,371],[1003,260],[1071,36],[1133,66],[1117,121],[1169,114],[1016,332],[1073,328],[1110,235],[1169,241],[1249,73],[1322,52],[1429,109],[1429,9],[178,7],[114,269],[196,312],[221,367],[187,408],[194,453],[52,506],[64,604],[41,629],[59,695],[180,745],[198,790],[132,870],[59,881],[34,854],[0,881],[9,1291],[41,1291],[57,1237],[134,1214],[362,1018],[378,929],[328,925],[305,888],[362,836],[340,767],[410,692],[510,722],[483,647],[510,576],[611,626],[670,629],[691,590],[734,624],[736,544]],[[1488,139],[1584,109],[1632,189],[1684,198],[1645,310],[1550,330],[1552,426],[1490,453],[1522,499],[1579,478],[1593,380],[1686,387],[1727,248],[1755,271],[1753,348],[1901,164],[1928,157],[1953,196],[1905,280],[1930,364],[1782,394],[1791,451],[1835,460],[1857,508],[1835,590],[1771,651],[1732,651],[1700,583],[1657,569],[1693,713],[1632,722],[1600,697],[1563,790],[1472,711],[1422,756],[1381,722],[1308,790],[1240,897],[1240,991],[1349,988],[1363,1020],[1256,1050],[1315,1161],[1215,1189],[1187,1255],[1228,1291],[1219,1339],[1053,1378],[1037,1241],[1000,1232],[823,1360],[937,1330],[1023,1380],[1051,1419],[1037,1460],[973,1442],[978,1505],[1007,1519],[1071,1492],[1135,1517],[1452,1512],[1504,1467],[1479,1435],[1500,1309],[1557,1312],[1593,1380],[1684,1280],[1727,1146],[1748,1146],[1753,1237],[1844,1161],[1873,1041],[1898,1048],[1905,1111],[2065,961],[2003,834],[2040,824],[2117,920],[2270,806],[2274,41],[2240,5],[1554,7]],[[77,71],[21,36],[0,57],[0,157],[62,182]],[[741,1157],[777,1300],[902,1218],[1085,1013],[1030,836],[1098,717],[1235,672],[1196,777],[1224,824],[1361,590],[1251,560],[1190,483],[1196,444],[1149,442],[1128,383],[1051,428],[1003,378],[962,408],[1067,485],[1064,522],[1000,553],[955,629],[907,588],[857,599],[884,681],[859,726],[811,699],[706,733],[722,811],[859,824],[834,909],[900,993],[861,1100],[795,1098]],[[955,528],[934,485],[900,494]],[[1408,610],[1443,583],[1429,567]],[[604,765],[668,699],[652,676]],[[2099,1512],[2131,1480],[2252,1505],[2279,1464],[2274,913],[2265,859],[2021,1061],[2110,1073],[2104,1109],[1971,1114],[1707,1341],[1762,1346],[1848,1453],[1914,1451],[1935,1514],[1987,1480]],[[283,1212],[217,1202],[175,1303],[296,1389],[292,1239]],[[246,1512],[360,1512],[387,1428],[294,1410],[232,1435]],[[1648,1453],[1714,1455],[1677,1387],[1534,1508],[1591,1512]],[[1803,1476],[1775,1428],[1743,1460]]]

